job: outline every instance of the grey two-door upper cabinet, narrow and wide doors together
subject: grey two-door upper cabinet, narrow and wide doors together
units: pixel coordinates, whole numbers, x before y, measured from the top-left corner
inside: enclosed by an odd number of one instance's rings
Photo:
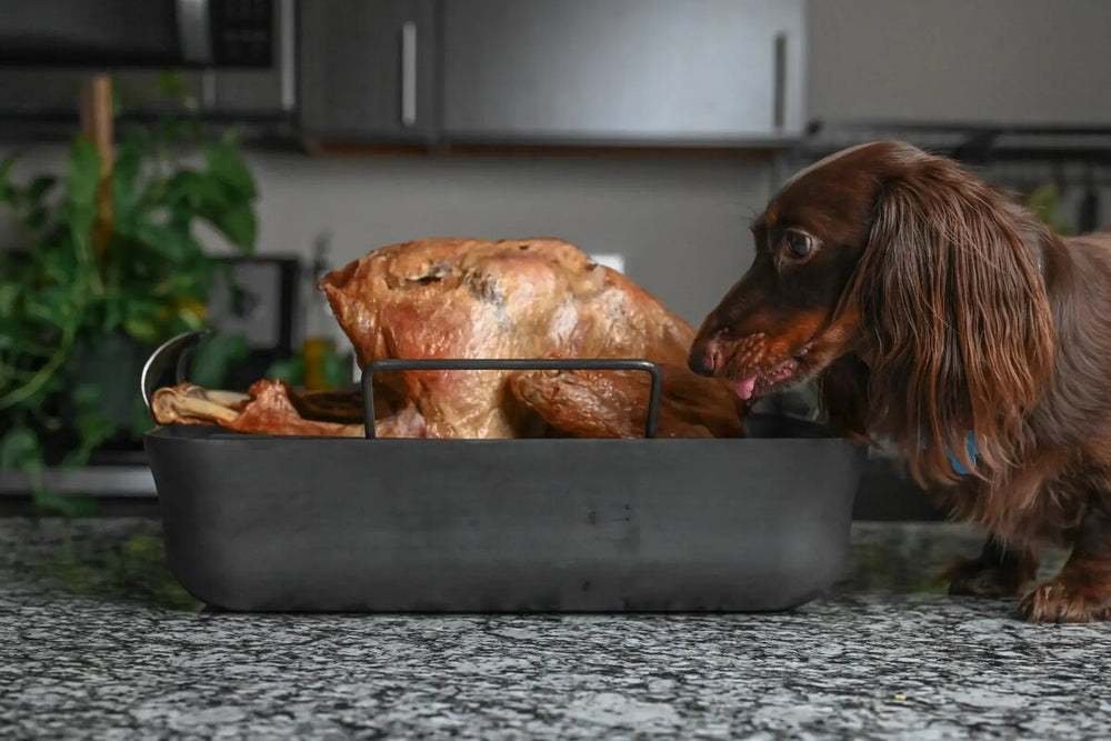
[[[804,127],[804,0],[300,4],[310,138],[759,146]]]

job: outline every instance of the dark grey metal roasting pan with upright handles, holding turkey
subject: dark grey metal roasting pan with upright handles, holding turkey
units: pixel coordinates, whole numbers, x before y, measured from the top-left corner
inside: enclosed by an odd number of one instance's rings
[[[653,424],[659,373],[640,360],[384,361],[363,372],[364,398],[382,370],[541,366],[649,372]],[[792,418],[753,415],[748,432],[434,440],[170,425],[144,444],[170,570],[213,608],[785,610],[841,575],[864,452]]]

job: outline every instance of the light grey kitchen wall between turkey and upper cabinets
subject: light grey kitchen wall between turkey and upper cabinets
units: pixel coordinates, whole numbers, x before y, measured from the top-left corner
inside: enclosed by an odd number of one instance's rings
[[[770,168],[680,158],[252,158],[260,246],[304,250],[333,232],[337,261],[428,236],[553,236],[621,253],[625,272],[691,322],[751,260],[748,220]]]

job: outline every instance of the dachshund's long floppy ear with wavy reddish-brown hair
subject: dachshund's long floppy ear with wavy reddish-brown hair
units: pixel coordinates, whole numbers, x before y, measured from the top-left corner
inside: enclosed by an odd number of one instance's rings
[[[919,481],[954,481],[949,451],[980,475],[1021,452],[1055,343],[1032,236],[1051,239],[950,160],[922,154],[883,183],[851,293],[870,428],[900,444]]]

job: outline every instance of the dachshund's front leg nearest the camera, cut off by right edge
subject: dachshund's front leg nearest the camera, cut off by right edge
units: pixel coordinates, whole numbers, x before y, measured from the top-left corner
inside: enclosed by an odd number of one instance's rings
[[[1028,594],[1019,609],[1031,622],[1111,619],[1111,513],[1105,508],[1084,515],[1064,567]]]

